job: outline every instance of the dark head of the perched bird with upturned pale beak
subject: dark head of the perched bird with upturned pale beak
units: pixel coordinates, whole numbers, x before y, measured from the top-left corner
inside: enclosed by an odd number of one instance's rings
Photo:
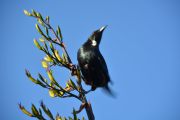
[[[88,43],[90,43],[92,46],[99,46],[101,42],[101,37],[103,34],[103,31],[106,29],[106,26],[101,27],[100,29],[94,31],[92,35],[88,38]]]

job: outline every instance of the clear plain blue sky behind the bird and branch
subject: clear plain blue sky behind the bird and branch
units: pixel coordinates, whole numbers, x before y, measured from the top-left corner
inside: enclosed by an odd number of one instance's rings
[[[36,21],[23,14],[24,9],[35,9],[49,15],[54,27],[61,26],[74,63],[78,48],[92,31],[108,25],[100,50],[118,97],[113,99],[100,89],[87,96],[97,120],[179,120],[179,6],[178,0],[1,0],[0,119],[29,119],[18,109],[19,102],[30,108],[43,100],[54,114],[63,116],[80,104],[50,98],[47,90],[25,76],[25,68],[34,76],[46,75],[40,62],[44,54],[33,45],[39,37]],[[61,80],[69,75],[61,68],[56,73]]]

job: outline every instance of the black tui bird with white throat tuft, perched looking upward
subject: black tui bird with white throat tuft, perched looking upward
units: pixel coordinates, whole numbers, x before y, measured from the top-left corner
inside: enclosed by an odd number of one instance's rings
[[[99,44],[106,27],[103,26],[92,33],[82,47],[79,48],[77,59],[84,82],[91,86],[91,91],[94,91],[98,87],[103,87],[112,95],[108,87],[108,82],[110,82],[108,68],[99,51]]]

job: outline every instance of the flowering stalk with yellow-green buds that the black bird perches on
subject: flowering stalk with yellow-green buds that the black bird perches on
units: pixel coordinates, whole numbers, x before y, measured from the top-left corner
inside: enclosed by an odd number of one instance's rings
[[[34,10],[32,11],[32,13],[29,13],[28,11],[25,10],[24,13],[28,16],[35,17],[37,19],[38,23],[45,28],[46,34],[41,30],[39,25],[36,24],[37,31],[42,35],[42,37],[46,41],[48,41],[50,43],[50,48],[51,48],[51,51],[49,51],[48,46],[44,40],[42,40],[44,43],[44,47],[41,46],[37,42],[37,40],[34,40],[34,43],[37,46],[37,48],[40,49],[41,51],[43,51],[49,57],[49,58],[46,58],[46,61],[42,61],[42,66],[47,71],[48,77],[50,79],[50,84],[44,79],[44,77],[42,77],[41,74],[39,74],[39,78],[41,79],[41,81],[39,81],[38,79],[34,79],[28,71],[26,71],[26,75],[35,84],[39,84],[40,86],[49,89],[49,91],[51,90],[50,92],[52,92],[54,94],[53,96],[57,95],[60,98],[74,97],[74,98],[80,100],[82,102],[81,105],[84,105],[84,106],[80,107],[81,109],[79,110],[79,112],[85,108],[88,119],[95,120],[91,104],[87,101],[87,98],[86,98],[87,92],[85,92],[85,90],[83,89],[82,84],[81,84],[83,77],[81,75],[80,69],[78,66],[76,66],[75,64],[72,63],[72,60],[67,52],[66,46],[63,43],[63,38],[62,38],[61,31],[60,31],[60,27],[58,26],[57,31],[54,30],[53,27],[50,25],[49,17],[46,17],[46,19],[43,19],[41,14]],[[52,38],[49,35],[49,30],[55,36],[55,38]],[[65,56],[62,56],[62,58],[61,58],[61,56],[58,54],[58,51],[53,47],[53,44],[58,45],[60,48],[62,48],[62,51]],[[56,66],[56,65],[69,69],[71,71],[71,75],[75,76],[77,78],[76,79],[77,84],[75,84],[72,80],[69,80],[67,82],[67,88],[71,88],[71,89],[66,90],[66,88],[61,87],[58,84],[58,82],[54,79],[54,77],[52,75],[52,71],[49,68],[51,66]],[[72,93],[71,90],[77,91],[78,95]],[[59,95],[59,94],[61,94],[61,92],[63,94]],[[49,111],[49,109],[47,110],[44,105],[42,105],[41,107],[43,108],[45,113],[47,113]],[[35,108],[35,106],[33,106],[33,108]],[[27,110],[25,112],[27,112]],[[37,112],[37,111],[35,110],[35,112]],[[31,115],[30,112],[27,112],[27,113]],[[39,111],[38,115],[39,114],[41,115],[41,111]],[[74,118],[77,118],[76,114],[75,114],[75,110],[73,110],[73,115],[74,115]],[[53,119],[53,116],[50,113],[49,113],[49,117],[51,119]]]

